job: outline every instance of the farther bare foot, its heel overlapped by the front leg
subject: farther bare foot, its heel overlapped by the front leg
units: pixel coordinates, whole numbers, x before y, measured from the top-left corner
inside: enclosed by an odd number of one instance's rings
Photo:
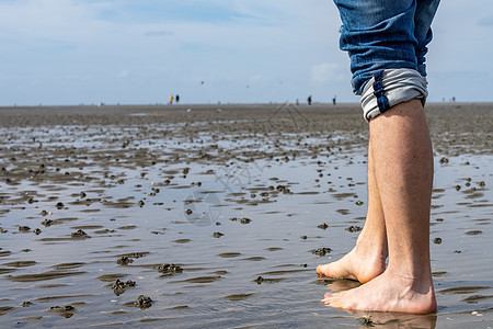
[[[375,252],[375,248],[356,246],[339,261],[318,265],[317,273],[329,277],[351,279],[367,283],[383,273],[386,259],[387,252]]]

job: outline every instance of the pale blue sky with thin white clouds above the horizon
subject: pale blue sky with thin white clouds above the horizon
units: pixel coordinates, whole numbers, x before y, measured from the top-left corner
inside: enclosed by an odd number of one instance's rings
[[[0,0],[0,106],[358,102],[332,0]],[[493,102],[493,1],[444,0],[431,102]]]

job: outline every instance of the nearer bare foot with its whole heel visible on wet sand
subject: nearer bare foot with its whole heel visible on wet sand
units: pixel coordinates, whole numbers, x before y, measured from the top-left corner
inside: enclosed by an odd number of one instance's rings
[[[414,280],[386,271],[359,287],[326,293],[321,300],[340,309],[429,314],[436,311],[432,277]]]

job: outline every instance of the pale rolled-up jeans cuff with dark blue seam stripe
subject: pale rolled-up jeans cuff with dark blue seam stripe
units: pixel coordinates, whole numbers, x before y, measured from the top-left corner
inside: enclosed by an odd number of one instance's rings
[[[366,82],[362,92],[363,114],[367,122],[390,107],[413,99],[426,102],[426,78],[413,69],[380,70]]]

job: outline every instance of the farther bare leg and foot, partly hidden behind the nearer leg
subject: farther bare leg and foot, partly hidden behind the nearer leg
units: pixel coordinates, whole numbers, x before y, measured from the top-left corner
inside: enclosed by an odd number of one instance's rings
[[[366,283],[386,270],[387,232],[375,177],[371,143],[368,145],[368,211],[356,247],[339,261],[317,266],[317,273]]]

